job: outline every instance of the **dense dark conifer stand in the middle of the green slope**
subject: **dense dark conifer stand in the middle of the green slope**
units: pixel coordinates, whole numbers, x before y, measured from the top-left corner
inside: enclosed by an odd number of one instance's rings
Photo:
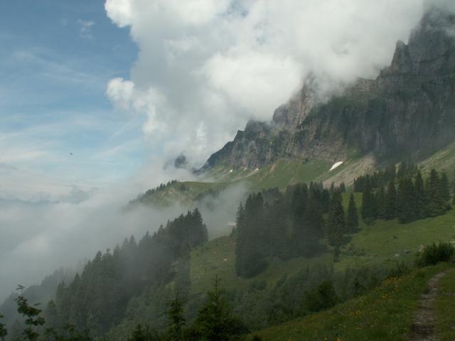
[[[237,275],[259,274],[270,257],[289,259],[321,251],[319,239],[330,197],[321,183],[294,185],[284,193],[275,189],[250,195],[237,211]]]

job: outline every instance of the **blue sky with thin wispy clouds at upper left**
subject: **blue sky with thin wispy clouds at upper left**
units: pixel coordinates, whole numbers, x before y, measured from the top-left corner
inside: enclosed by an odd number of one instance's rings
[[[0,163],[68,185],[132,175],[146,158],[141,118],[105,92],[136,58],[103,0],[1,1]]]

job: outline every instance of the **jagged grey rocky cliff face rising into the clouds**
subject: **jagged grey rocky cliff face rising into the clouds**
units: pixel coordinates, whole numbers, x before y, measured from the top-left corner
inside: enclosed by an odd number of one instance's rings
[[[340,161],[350,147],[378,158],[419,157],[455,141],[455,14],[427,11],[376,80],[358,80],[323,104],[312,89],[304,85],[271,122],[250,121],[204,168]]]

